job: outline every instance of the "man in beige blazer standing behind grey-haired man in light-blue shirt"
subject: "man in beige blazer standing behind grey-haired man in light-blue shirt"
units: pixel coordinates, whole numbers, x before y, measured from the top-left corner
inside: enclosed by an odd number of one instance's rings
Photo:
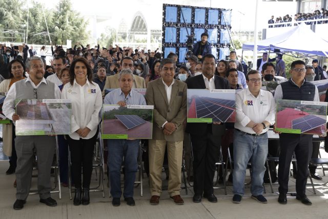
[[[122,66],[122,69],[130,68],[132,72],[134,71],[133,59],[131,57],[122,58],[121,66]],[[104,91],[105,91],[105,89],[119,88],[118,77],[119,77],[119,74],[108,76],[106,78]],[[132,88],[146,88],[145,78],[140,77],[135,74],[133,75],[133,77],[134,77],[134,82],[133,82]]]

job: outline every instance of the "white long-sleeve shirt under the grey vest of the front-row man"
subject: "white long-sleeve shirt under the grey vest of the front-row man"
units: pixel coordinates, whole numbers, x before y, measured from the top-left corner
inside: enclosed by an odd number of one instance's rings
[[[27,76],[25,83],[31,83],[32,87],[37,89],[42,83],[47,84],[47,80],[43,78],[42,81],[35,86],[30,76]],[[60,99],[60,90],[58,86],[54,86],[54,87],[55,87],[54,89],[55,98]],[[15,113],[15,99],[16,99],[16,83],[11,85],[7,93],[6,99],[4,101],[4,105],[2,107],[4,115],[10,120],[12,119],[12,115]]]

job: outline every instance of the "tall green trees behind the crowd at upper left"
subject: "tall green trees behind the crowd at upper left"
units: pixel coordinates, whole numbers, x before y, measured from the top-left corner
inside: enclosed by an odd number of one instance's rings
[[[28,10],[24,4],[26,4],[24,0],[0,0],[0,28],[26,31]],[[42,4],[32,0],[29,6],[28,43],[50,44],[48,34],[35,35],[47,31]],[[81,44],[87,42],[89,35],[86,31],[87,22],[83,16],[72,10],[71,0],[60,0],[56,9],[43,8],[53,44],[64,45],[67,39],[71,39],[73,45],[77,42]],[[1,36],[10,35],[0,33]],[[16,41],[22,41],[22,38]]]

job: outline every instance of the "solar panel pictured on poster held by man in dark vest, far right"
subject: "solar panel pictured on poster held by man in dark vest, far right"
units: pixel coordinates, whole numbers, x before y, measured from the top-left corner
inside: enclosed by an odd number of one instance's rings
[[[293,120],[292,129],[300,129],[301,132],[306,132],[324,124],[326,124],[326,120],[324,118],[310,114]]]

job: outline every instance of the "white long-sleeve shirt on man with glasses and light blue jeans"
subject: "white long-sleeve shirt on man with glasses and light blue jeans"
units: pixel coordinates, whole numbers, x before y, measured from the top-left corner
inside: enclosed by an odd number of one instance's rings
[[[273,125],[275,115],[276,102],[271,92],[260,90],[257,97],[253,96],[249,89],[236,93],[236,129],[255,134],[252,128],[247,127],[247,124],[251,121],[254,123],[268,121],[270,125]],[[267,131],[268,129],[263,129],[261,133]]]

